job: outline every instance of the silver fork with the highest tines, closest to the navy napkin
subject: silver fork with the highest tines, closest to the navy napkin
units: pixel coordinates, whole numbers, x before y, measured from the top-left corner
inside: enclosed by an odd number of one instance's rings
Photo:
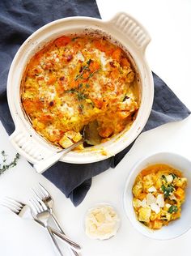
[[[42,186],[42,184],[40,184],[40,183],[39,183],[39,186],[36,188],[36,190],[32,189],[32,191],[34,192],[34,194],[36,194],[38,197],[40,197],[40,199],[43,201],[43,203],[45,203],[45,205],[48,208],[49,213],[52,216],[52,218],[54,220],[54,223],[56,224],[58,230],[60,231],[60,233],[65,235],[61,225],[58,223],[58,220],[57,220],[56,216],[53,213],[54,201],[53,201],[53,197],[51,196],[51,194],[49,194],[49,191],[47,191],[45,189],[45,187]],[[73,250],[72,248],[71,248],[71,250],[72,250],[72,252],[75,256],[79,256],[79,253],[76,250]]]

